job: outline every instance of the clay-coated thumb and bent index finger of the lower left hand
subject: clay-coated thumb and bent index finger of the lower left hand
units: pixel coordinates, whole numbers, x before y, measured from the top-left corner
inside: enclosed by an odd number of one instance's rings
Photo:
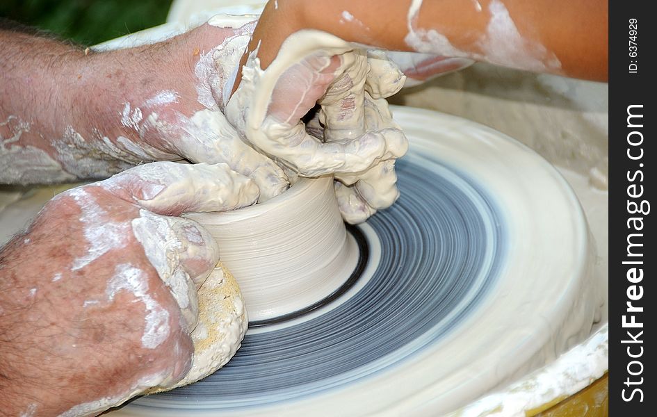
[[[197,323],[197,288],[219,259],[218,246],[186,211],[224,211],[252,204],[257,186],[225,164],[149,163],[95,184],[142,209],[131,221],[145,256],[170,290],[190,332]]]

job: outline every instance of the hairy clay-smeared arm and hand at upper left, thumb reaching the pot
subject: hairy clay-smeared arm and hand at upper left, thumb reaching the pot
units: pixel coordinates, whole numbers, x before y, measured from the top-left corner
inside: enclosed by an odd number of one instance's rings
[[[226,163],[253,179],[261,201],[282,193],[282,168],[245,145],[213,97],[243,52],[231,58],[222,45],[248,40],[254,23],[239,26],[206,24],[95,53],[0,25],[0,183],[104,179],[140,163],[188,161]]]

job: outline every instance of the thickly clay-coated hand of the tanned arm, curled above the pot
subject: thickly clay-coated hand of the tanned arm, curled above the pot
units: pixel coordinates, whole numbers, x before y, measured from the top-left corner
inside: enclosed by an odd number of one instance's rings
[[[398,197],[394,159],[407,150],[385,101],[405,80],[396,65],[327,33],[291,35],[266,70],[257,52],[225,104],[229,122],[295,174],[334,174],[348,222],[391,205]],[[306,124],[316,104],[321,111]]]

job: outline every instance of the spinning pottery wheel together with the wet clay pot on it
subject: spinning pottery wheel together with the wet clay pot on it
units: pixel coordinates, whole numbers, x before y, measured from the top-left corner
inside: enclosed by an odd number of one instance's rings
[[[485,126],[393,110],[410,142],[402,196],[365,224],[344,231],[330,178],[224,218],[190,215],[220,240],[252,327],[217,373],[112,414],[443,414],[589,334],[592,247],[560,174]],[[248,256],[224,249],[240,236]]]

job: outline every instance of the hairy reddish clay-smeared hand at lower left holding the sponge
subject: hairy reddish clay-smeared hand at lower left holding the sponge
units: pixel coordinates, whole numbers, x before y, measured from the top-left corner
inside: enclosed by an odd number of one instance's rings
[[[0,253],[3,411],[96,415],[185,377],[219,253],[177,216],[257,198],[225,164],[158,162],[52,199]]]

